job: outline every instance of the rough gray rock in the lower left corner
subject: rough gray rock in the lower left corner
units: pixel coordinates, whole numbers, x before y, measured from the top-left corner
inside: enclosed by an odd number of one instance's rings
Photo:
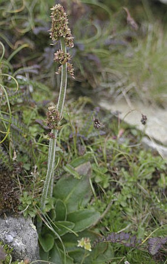
[[[0,241],[13,248],[12,260],[39,260],[38,234],[30,218],[0,218]]]

